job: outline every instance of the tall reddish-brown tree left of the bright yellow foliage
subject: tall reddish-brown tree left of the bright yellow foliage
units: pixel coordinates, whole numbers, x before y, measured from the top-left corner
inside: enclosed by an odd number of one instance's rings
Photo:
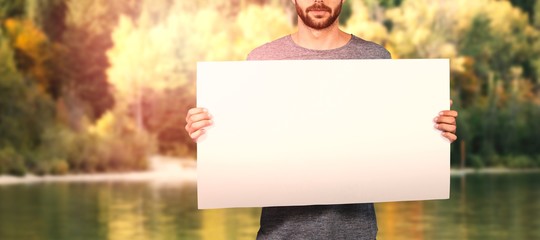
[[[113,47],[112,30],[120,14],[134,16],[137,1],[67,2],[62,51],[56,59],[63,83],[63,98],[70,123],[80,128],[81,120],[99,119],[114,105],[112,86],[106,70],[110,66],[106,51]],[[82,111],[81,111],[82,110]]]

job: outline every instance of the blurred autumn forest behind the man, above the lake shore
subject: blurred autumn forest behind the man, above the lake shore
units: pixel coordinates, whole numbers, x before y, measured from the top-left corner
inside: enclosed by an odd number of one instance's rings
[[[196,62],[296,21],[289,0],[0,0],[0,174],[194,158]],[[349,0],[339,21],[394,59],[451,60],[453,167],[540,167],[540,0]]]

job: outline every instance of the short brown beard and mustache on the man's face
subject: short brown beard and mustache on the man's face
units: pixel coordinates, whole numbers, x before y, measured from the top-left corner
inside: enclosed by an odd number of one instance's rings
[[[305,12],[298,6],[296,1],[294,2],[294,5],[296,7],[296,13],[306,26],[316,30],[322,30],[330,27],[338,19],[343,1],[341,1],[335,9],[326,6],[324,3],[315,3],[306,8]],[[315,18],[308,15],[310,11],[326,11],[330,14],[330,17],[324,21],[317,21]]]

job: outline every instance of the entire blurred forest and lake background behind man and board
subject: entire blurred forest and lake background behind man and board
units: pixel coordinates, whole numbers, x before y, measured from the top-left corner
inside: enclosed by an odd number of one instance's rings
[[[540,239],[540,0],[348,0],[339,20],[451,59],[451,198],[376,204],[378,238]],[[295,25],[289,0],[0,0],[0,239],[254,239],[260,209],[197,210],[184,117],[197,61]]]

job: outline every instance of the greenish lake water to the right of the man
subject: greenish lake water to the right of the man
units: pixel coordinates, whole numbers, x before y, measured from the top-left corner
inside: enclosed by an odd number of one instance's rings
[[[540,239],[540,175],[452,179],[451,199],[377,204],[378,239]]]

